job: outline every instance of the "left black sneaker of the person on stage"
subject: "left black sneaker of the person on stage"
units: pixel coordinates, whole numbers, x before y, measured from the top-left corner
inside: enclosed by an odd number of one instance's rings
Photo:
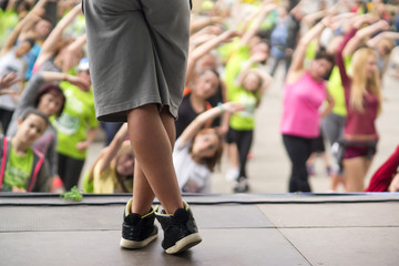
[[[121,247],[123,248],[142,248],[147,246],[157,237],[157,227],[154,225],[155,212],[157,206],[151,208],[146,215],[141,216],[131,213],[132,200],[126,204],[123,214]]]

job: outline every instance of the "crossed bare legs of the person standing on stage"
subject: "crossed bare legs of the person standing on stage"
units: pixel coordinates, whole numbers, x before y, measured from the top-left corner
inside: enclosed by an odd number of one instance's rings
[[[136,156],[132,212],[145,214],[155,195],[166,213],[183,207],[172,161],[173,117],[161,113],[156,104],[127,113],[129,135]],[[172,126],[173,125],[173,126]]]

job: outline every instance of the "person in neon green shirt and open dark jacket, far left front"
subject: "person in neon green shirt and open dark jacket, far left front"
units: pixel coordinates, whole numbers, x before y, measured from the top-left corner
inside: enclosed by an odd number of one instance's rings
[[[43,134],[48,117],[28,109],[12,139],[0,136],[0,192],[48,192],[50,176],[41,153],[32,144]]]

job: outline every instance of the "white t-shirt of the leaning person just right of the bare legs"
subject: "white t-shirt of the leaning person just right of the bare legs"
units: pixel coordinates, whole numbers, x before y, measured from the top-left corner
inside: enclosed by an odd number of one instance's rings
[[[190,155],[191,142],[180,147],[180,139],[173,151],[173,163],[182,192],[211,193],[211,171],[197,164]]]

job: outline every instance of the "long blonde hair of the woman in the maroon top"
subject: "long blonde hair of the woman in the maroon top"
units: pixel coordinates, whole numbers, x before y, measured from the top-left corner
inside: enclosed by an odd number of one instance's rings
[[[375,94],[378,99],[377,114],[381,112],[381,85],[378,71],[376,71],[371,78],[367,76],[367,60],[369,57],[376,57],[377,54],[372,49],[360,48],[354,54],[351,60],[352,83],[350,90],[349,104],[354,110],[364,112],[364,95],[367,93],[367,89]]]

